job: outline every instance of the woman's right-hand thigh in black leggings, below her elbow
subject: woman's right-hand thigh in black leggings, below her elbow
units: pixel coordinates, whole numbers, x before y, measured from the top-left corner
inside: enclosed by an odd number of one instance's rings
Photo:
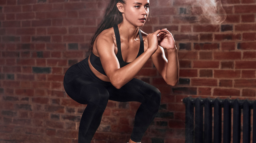
[[[146,98],[152,95],[152,93],[160,93],[160,91],[139,79],[132,79],[127,84],[125,84],[120,89],[115,87],[108,88],[109,91],[109,100],[118,101],[118,102],[144,102]]]

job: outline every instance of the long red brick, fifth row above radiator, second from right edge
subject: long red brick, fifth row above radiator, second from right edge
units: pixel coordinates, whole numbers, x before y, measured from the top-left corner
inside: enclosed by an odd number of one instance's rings
[[[241,52],[214,52],[213,58],[217,60],[239,60]]]

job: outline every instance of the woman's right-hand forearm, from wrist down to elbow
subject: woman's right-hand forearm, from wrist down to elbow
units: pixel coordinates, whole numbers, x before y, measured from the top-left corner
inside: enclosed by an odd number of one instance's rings
[[[165,72],[165,81],[171,86],[175,86],[179,80],[179,60],[177,49],[167,50],[168,62]]]

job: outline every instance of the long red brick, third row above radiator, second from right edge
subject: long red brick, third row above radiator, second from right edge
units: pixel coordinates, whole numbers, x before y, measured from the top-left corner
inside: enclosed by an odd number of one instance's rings
[[[241,71],[214,70],[214,78],[240,78]]]

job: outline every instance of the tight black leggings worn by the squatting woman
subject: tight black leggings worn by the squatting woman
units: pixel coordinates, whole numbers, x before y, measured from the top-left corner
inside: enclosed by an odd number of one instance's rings
[[[81,117],[78,143],[90,143],[101,121],[108,100],[137,101],[141,105],[135,115],[131,139],[140,142],[159,110],[160,91],[139,79],[132,79],[120,89],[97,78],[90,70],[88,58],[71,66],[64,77],[64,88],[76,102],[87,104]]]

